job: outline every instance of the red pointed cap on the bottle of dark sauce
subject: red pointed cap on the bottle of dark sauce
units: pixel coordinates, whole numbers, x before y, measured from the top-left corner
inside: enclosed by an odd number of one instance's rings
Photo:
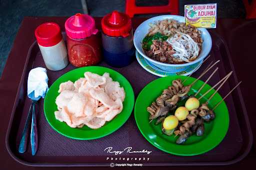
[[[131,30],[131,19],[127,14],[114,10],[102,18],[101,27],[108,36],[126,37]]]

